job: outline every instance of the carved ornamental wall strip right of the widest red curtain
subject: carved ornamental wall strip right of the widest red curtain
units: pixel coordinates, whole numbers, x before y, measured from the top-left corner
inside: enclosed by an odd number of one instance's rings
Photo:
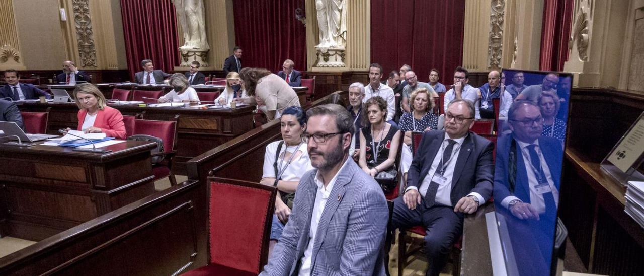
[[[493,0],[489,15],[488,68],[500,68],[506,1]]]

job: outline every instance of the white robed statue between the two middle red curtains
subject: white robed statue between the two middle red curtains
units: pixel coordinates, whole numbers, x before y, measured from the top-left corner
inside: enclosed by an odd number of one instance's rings
[[[316,0],[319,39],[317,48],[326,52],[328,48],[346,46],[346,0]]]

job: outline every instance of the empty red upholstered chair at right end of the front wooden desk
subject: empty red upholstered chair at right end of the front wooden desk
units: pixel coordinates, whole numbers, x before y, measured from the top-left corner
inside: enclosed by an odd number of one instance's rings
[[[172,172],[172,161],[176,155],[176,128],[179,124],[179,116],[176,116],[175,119],[176,121],[135,119],[133,132],[133,135],[146,134],[163,140],[164,152],[155,153],[152,156],[164,156],[164,159],[160,163],[154,164],[152,170],[155,173],[155,181],[167,177],[172,186],[176,185],[175,173]]]

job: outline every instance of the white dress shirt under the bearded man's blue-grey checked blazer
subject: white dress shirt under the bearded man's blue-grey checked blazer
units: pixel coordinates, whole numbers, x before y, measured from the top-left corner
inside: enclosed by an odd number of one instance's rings
[[[307,250],[304,251],[304,256],[302,256],[302,259],[300,260],[301,266],[299,266],[299,276],[309,276],[311,274],[311,257],[313,255],[313,244],[316,243],[317,224],[319,224],[320,219],[322,218],[325,205],[327,205],[327,199],[331,195],[334,184],[336,184],[337,175],[343,170],[343,168],[345,168],[349,158],[351,157],[348,157],[345,160],[345,163],[342,164],[339,170],[337,170],[336,175],[333,176],[326,187],[324,186],[324,182],[319,179],[319,171],[317,171],[316,177],[313,179],[313,182],[317,186],[316,201],[313,204],[313,213],[311,214],[311,227],[308,231]]]

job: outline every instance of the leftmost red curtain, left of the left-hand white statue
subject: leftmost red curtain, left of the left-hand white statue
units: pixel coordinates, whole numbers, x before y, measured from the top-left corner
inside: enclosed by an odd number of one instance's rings
[[[130,77],[151,59],[155,69],[171,72],[179,64],[175,6],[171,0],[121,0],[125,52]]]

